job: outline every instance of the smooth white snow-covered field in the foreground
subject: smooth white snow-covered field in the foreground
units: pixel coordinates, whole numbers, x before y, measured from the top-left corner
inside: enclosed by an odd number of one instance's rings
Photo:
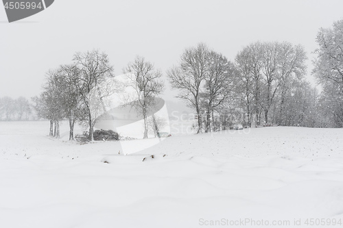
[[[343,129],[178,134],[126,156],[118,154],[120,142],[68,142],[67,124],[61,140],[48,130],[47,122],[0,122],[0,227],[309,227],[307,218],[343,220]]]

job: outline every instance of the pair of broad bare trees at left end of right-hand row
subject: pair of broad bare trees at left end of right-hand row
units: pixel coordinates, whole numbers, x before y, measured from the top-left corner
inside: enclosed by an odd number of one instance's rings
[[[200,43],[186,49],[180,63],[167,72],[178,98],[187,102],[198,116],[198,133],[211,131],[215,112],[225,110],[233,100],[235,67],[222,54]]]

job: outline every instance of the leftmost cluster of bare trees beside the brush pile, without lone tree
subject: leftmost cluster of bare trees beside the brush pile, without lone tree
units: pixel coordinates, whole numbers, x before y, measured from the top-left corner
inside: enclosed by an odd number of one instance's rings
[[[50,121],[50,136],[60,137],[60,121],[69,121],[69,140],[73,140],[76,121],[89,127],[93,140],[93,127],[97,114],[102,112],[103,98],[115,92],[110,84],[113,66],[108,56],[99,51],[75,53],[73,63],[61,65],[47,73],[44,91],[34,97],[38,116]]]

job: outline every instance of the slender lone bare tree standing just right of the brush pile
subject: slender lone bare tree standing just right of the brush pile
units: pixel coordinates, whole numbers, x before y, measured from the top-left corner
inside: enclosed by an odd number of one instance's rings
[[[128,63],[123,68],[137,99],[130,102],[141,113],[144,121],[143,138],[147,138],[148,121],[147,113],[156,104],[155,98],[163,92],[164,84],[161,80],[162,73],[154,68],[154,64],[147,62],[143,57],[137,56],[134,62]]]

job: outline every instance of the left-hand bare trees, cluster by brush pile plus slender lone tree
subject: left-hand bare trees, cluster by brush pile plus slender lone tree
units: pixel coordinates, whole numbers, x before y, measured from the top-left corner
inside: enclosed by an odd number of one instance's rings
[[[155,98],[163,91],[161,71],[144,58],[137,57],[130,62],[123,73],[128,79],[126,86],[136,92],[132,105],[137,113],[143,115],[144,138],[147,138],[148,111],[154,105]],[[69,121],[69,140],[74,139],[74,125],[78,121],[88,127],[89,140],[93,140],[93,131],[97,118],[106,114],[111,107],[109,99],[113,94],[123,92],[123,82],[115,79],[113,66],[106,53],[97,50],[75,53],[71,64],[60,65],[47,73],[44,91],[34,97],[34,108],[40,118],[50,121],[49,135],[60,137],[60,121]],[[154,129],[157,121],[152,118]]]

